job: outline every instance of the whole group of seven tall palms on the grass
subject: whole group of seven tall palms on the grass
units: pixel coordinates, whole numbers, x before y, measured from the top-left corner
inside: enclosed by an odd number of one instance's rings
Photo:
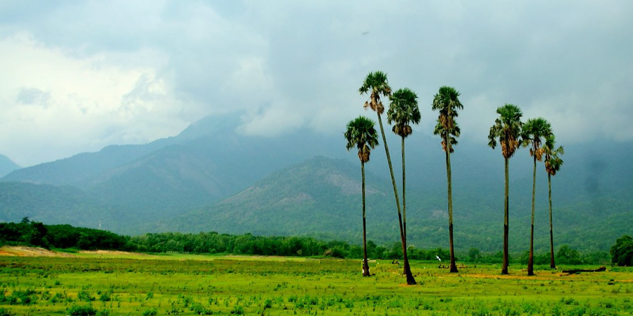
[[[410,88],[401,88],[396,92],[392,92],[387,75],[382,71],[374,71],[369,73],[363,84],[358,89],[361,95],[367,94],[368,100],[365,102],[365,109],[369,108],[375,111],[378,116],[380,126],[380,134],[382,135],[382,143],[387,155],[387,164],[391,173],[391,182],[393,185],[394,198],[396,201],[396,210],[398,210],[398,221],[400,229],[400,240],[403,250],[404,270],[408,284],[416,284],[415,278],[411,273],[409,260],[406,254],[406,172],[404,164],[404,138],[413,133],[411,125],[420,123],[420,109],[418,108],[418,96]],[[453,87],[441,87],[436,95],[434,95],[432,110],[438,111],[437,125],[434,134],[441,137],[442,150],[446,154],[446,178],[448,186],[448,227],[449,227],[449,252],[451,272],[458,272],[455,264],[455,256],[453,250],[453,196],[451,184],[451,153],[454,151],[454,145],[457,144],[457,138],[460,136],[460,128],[455,121],[458,116],[457,110],[463,109],[459,97],[460,92]],[[387,110],[387,123],[392,125],[392,131],[401,137],[402,143],[402,207],[398,195],[398,186],[394,176],[391,164],[391,156],[389,155],[389,147],[385,131],[382,126],[380,114],[384,113],[384,105],[382,99],[389,99],[389,109]],[[505,204],[504,204],[504,221],[503,221],[503,267],[502,274],[508,274],[508,160],[523,145],[530,147],[530,155],[534,157],[534,174],[532,183],[532,226],[530,233],[530,255],[528,264],[528,274],[534,274],[533,257],[534,257],[534,195],[536,188],[536,161],[545,159],[545,169],[548,173],[549,184],[549,232],[551,245],[551,267],[555,267],[554,262],[554,246],[551,221],[551,176],[556,174],[560,169],[563,161],[559,155],[563,154],[563,147],[555,149],[555,138],[551,131],[549,123],[542,118],[529,119],[525,124],[522,123],[521,110],[512,104],[497,109],[499,118],[496,119],[494,125],[490,128],[489,146],[494,149],[497,140],[501,145],[501,154],[505,160]],[[367,263],[367,233],[365,221],[365,163],[369,161],[371,150],[378,144],[378,134],[374,128],[375,123],[366,118],[359,116],[349,121],[344,132],[347,140],[347,149],[358,149],[358,158],[361,162],[362,174],[362,200],[363,200],[363,276],[370,276],[369,265]]]

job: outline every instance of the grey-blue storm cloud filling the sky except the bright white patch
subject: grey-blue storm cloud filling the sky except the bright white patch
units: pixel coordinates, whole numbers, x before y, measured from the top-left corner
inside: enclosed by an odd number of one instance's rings
[[[104,56],[100,63],[122,69],[153,68],[184,104],[180,119],[188,121],[242,112],[247,133],[299,126],[338,133],[363,113],[364,76],[383,70],[392,87],[420,96],[422,133],[431,133],[437,116],[432,96],[452,85],[462,94],[459,123],[470,140],[485,142],[496,107],[505,103],[522,107],[525,117],[549,119],[561,142],[633,138],[630,1],[2,6],[0,37],[28,32],[70,58]]]

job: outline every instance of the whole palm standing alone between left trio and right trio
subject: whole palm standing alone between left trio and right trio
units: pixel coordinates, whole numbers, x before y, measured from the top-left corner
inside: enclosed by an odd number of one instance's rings
[[[448,234],[451,253],[451,272],[458,272],[455,265],[455,254],[453,251],[453,192],[451,185],[451,152],[453,146],[457,145],[457,137],[460,136],[460,128],[455,122],[457,110],[463,109],[463,105],[458,97],[460,92],[453,87],[440,87],[433,98],[433,111],[438,110],[437,125],[433,133],[442,138],[442,149],[446,153],[446,180],[448,185]]]

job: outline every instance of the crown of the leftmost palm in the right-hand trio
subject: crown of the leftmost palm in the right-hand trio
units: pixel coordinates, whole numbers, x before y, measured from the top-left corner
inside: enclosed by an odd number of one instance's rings
[[[513,104],[498,107],[497,113],[499,118],[494,120],[494,125],[490,128],[488,145],[494,149],[497,146],[497,138],[499,138],[501,154],[507,159],[514,155],[520,145],[519,137],[523,127],[521,122],[523,113],[518,106]]]

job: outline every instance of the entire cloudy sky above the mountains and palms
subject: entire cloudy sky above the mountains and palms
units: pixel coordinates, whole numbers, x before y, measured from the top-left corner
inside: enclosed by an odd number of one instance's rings
[[[0,1],[0,154],[21,166],[177,135],[341,133],[370,71],[430,104],[460,91],[461,138],[496,108],[559,143],[633,140],[633,1]]]

